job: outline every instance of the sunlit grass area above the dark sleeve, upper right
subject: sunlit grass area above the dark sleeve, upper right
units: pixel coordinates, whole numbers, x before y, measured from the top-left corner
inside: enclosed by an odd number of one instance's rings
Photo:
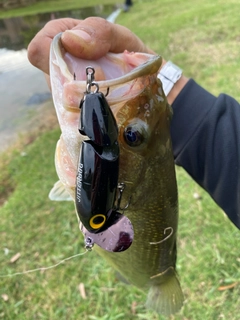
[[[240,99],[239,2],[140,1],[117,20],[206,89]]]

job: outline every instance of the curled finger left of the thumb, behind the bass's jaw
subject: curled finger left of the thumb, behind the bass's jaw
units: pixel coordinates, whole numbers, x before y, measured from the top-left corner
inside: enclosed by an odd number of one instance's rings
[[[28,45],[28,59],[37,68],[49,74],[49,51],[54,36],[65,30],[74,28],[77,19],[65,18],[49,21]]]

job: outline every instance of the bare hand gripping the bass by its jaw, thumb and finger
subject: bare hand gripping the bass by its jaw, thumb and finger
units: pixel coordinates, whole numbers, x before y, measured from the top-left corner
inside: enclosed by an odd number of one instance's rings
[[[81,59],[99,59],[108,52],[124,50],[153,53],[130,30],[105,19],[57,19],[48,22],[28,46],[29,61],[46,74],[49,74],[50,45],[60,32],[63,32],[61,40],[66,51]]]

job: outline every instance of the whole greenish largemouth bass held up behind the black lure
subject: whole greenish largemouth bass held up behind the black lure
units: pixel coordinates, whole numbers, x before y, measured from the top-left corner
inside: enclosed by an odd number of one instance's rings
[[[50,198],[75,199],[79,150],[86,139],[78,131],[79,105],[91,65],[101,92],[109,88],[106,99],[119,131],[119,181],[126,186],[124,215],[134,229],[126,251],[108,252],[97,245],[94,250],[129,283],[148,291],[147,307],[175,313],[183,304],[175,271],[178,197],[169,132],[172,111],[157,78],[161,58],[124,52],[80,60],[64,51],[60,37],[53,39],[50,52],[52,95],[62,131],[55,156],[60,182]]]

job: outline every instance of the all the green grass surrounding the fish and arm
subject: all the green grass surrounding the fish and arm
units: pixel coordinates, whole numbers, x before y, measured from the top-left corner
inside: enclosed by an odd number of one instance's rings
[[[239,99],[238,20],[238,1],[152,0],[134,1],[117,22],[214,94]],[[84,252],[73,204],[47,197],[57,179],[53,158],[58,137],[58,129],[47,131],[1,158],[1,274],[46,267]],[[171,319],[238,320],[240,232],[180,168],[177,178],[177,268],[186,299]],[[18,252],[21,257],[10,263]],[[80,283],[87,299],[80,295]],[[233,288],[219,290],[228,285]],[[119,282],[94,252],[48,271],[0,278],[0,319],[165,319],[147,312],[144,302],[145,294]]]

